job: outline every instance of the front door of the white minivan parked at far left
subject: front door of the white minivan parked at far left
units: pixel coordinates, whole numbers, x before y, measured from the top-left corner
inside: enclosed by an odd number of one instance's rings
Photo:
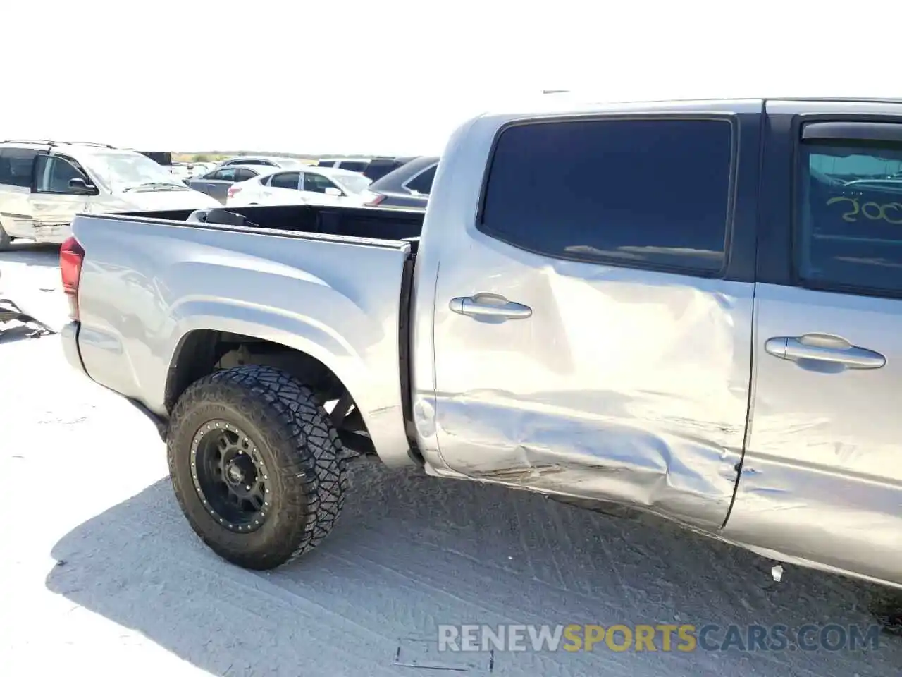
[[[38,155],[34,163],[31,203],[35,237],[39,240],[59,240],[68,236],[75,215],[89,209],[91,196],[69,186],[72,179],[81,179],[91,186],[87,173],[74,159],[62,155]]]

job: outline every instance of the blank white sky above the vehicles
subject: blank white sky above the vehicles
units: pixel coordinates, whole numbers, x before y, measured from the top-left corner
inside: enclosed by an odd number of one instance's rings
[[[0,138],[431,154],[468,117],[550,88],[902,97],[900,0],[5,5]]]

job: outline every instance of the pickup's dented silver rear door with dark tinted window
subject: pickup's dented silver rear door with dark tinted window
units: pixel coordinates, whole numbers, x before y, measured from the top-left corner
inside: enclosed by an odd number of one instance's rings
[[[447,466],[723,524],[749,404],[760,105],[712,110],[496,137],[481,208],[429,234]]]

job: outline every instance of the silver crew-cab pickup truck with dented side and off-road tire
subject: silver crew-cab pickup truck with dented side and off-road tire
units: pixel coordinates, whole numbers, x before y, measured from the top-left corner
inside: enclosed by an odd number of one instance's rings
[[[902,102],[487,114],[425,216],[81,215],[69,362],[269,569],[361,454],[902,587]],[[198,217],[195,217],[197,219]]]

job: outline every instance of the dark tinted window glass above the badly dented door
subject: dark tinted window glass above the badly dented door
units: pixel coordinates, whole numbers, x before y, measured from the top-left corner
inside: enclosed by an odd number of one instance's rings
[[[539,255],[722,274],[733,136],[724,118],[512,125],[496,140],[477,227]]]

